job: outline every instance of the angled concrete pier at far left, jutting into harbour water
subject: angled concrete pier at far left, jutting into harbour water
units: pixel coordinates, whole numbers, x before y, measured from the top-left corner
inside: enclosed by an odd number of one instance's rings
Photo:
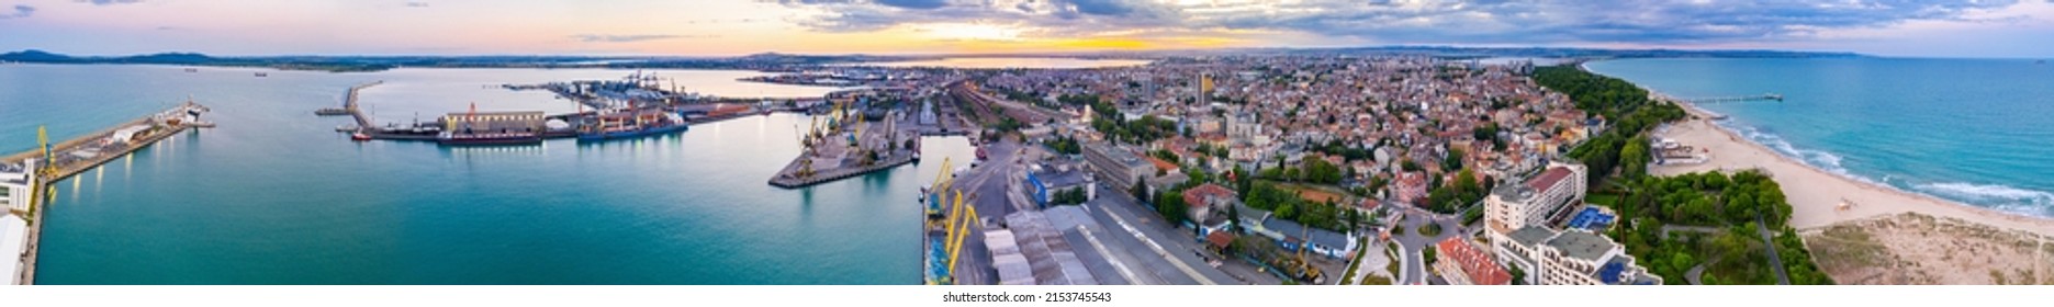
[[[78,176],[86,170],[99,168],[117,158],[125,158],[129,154],[154,145],[156,141],[170,139],[173,135],[185,133],[189,129],[214,127],[214,123],[199,121],[201,113],[207,113],[207,106],[187,100],[162,113],[146,115],[142,119],[127,121],[94,133],[86,133],[76,139],[60,143],[47,143],[45,139],[49,149],[47,154],[41,149],[41,145],[45,143],[39,143],[39,149],[29,149],[0,158],[0,164],[10,164],[10,166],[29,160],[37,162],[37,168],[31,170],[37,172],[37,176],[33,182],[35,188],[31,188],[35,190],[35,194],[31,196],[29,213],[25,215],[29,217],[29,248],[23,250],[25,258],[21,258],[23,260],[21,280],[25,280],[25,284],[35,282],[37,246],[41,246],[43,237],[41,211],[47,209],[47,199],[51,196],[43,192],[53,190],[45,186],[49,186],[51,182]]]

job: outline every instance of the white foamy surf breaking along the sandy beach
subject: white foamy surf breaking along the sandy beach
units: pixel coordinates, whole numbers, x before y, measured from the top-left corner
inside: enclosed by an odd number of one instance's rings
[[[2007,213],[2033,215],[2033,217],[2054,217],[2054,192],[2048,192],[2048,190],[2031,190],[2031,188],[2017,188],[2017,186],[2005,186],[2005,184],[1920,182],[1920,180],[1898,178],[1898,176],[1890,176],[1890,174],[1886,174],[1881,180],[1875,180],[1875,178],[1869,178],[1869,176],[1859,176],[1859,174],[1849,172],[1847,166],[1840,166],[1842,158],[1836,156],[1836,154],[1822,151],[1822,149],[1801,149],[1797,145],[1791,145],[1781,135],[1766,133],[1766,131],[1760,131],[1756,127],[1732,125],[1729,121],[1719,121],[1717,125],[1723,127],[1723,129],[1727,129],[1727,131],[1740,133],[1742,137],[1748,137],[1748,141],[1760,143],[1762,147],[1768,147],[1771,151],[1777,151],[1777,156],[1793,158],[1799,164],[1805,164],[1805,166],[1812,166],[1812,168],[1818,168],[1818,170],[1824,170],[1824,172],[1830,172],[1830,174],[1836,174],[1836,176],[1842,176],[1842,178],[1851,178],[1851,180],[1859,180],[1859,182],[1869,182],[1869,184],[1877,184],[1877,186],[1888,186],[1888,188],[1896,188],[1896,190],[1904,190],[1904,192],[1916,192],[1916,194],[1927,194],[1927,196],[1937,196],[1937,199],[1968,203],[1968,205],[1976,205],[1976,207],[2007,211]]]

